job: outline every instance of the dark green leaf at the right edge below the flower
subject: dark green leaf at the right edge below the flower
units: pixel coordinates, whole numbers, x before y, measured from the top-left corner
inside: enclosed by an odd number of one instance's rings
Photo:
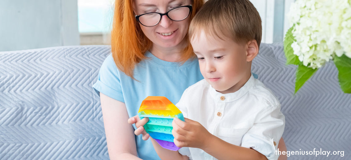
[[[339,71],[339,83],[344,93],[351,93],[351,58],[343,54],[335,56],[334,63]]]

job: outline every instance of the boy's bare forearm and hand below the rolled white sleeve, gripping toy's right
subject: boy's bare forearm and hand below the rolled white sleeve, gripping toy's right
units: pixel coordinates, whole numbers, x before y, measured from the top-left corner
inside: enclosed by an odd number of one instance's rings
[[[219,160],[267,160],[254,149],[232,145],[211,134],[199,122],[173,119],[174,143],[178,147],[200,148]]]

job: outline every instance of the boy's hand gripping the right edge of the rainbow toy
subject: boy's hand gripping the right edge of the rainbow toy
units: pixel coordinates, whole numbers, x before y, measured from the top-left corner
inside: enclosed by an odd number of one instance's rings
[[[174,118],[172,122],[174,144],[177,147],[206,148],[212,139],[212,134],[199,122],[184,118],[185,122]]]

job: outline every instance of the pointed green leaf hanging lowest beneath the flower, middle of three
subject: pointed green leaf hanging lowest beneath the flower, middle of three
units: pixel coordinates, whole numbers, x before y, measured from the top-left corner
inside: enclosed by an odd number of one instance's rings
[[[305,82],[316,73],[318,69],[312,69],[300,64],[296,71],[295,94],[305,84]]]

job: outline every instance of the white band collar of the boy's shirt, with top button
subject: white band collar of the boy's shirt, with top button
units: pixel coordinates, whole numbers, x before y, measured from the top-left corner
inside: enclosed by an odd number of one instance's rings
[[[231,102],[234,100],[239,99],[241,96],[243,96],[249,89],[255,84],[255,78],[251,74],[249,80],[245,83],[243,87],[241,87],[238,91],[234,93],[226,93],[222,94],[216,91],[216,89],[212,88],[212,86],[209,86],[208,92],[210,92],[210,95],[212,98],[215,99],[217,102]],[[221,97],[224,96],[224,100],[221,100]],[[223,98],[222,98],[223,99]]]

